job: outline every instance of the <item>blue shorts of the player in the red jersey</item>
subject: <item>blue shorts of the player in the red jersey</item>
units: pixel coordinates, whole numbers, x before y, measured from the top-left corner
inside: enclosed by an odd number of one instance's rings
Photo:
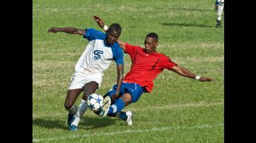
[[[109,92],[107,92],[106,95],[111,98],[112,95],[116,94],[116,90],[117,90],[117,85],[114,85],[112,89],[109,90]],[[124,95],[124,93],[129,93],[130,95],[132,95],[132,101],[130,103],[135,103],[136,101],[138,101],[138,99],[142,95],[143,88],[136,83],[122,83],[119,97]],[[114,103],[115,102],[116,100],[114,101]]]

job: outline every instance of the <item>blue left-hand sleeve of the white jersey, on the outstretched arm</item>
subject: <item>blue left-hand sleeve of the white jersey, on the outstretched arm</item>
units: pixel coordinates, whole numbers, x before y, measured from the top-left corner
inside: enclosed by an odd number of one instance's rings
[[[96,39],[104,40],[106,38],[106,34],[102,33],[99,30],[89,28],[86,29],[86,34],[84,35],[84,38],[89,41]]]

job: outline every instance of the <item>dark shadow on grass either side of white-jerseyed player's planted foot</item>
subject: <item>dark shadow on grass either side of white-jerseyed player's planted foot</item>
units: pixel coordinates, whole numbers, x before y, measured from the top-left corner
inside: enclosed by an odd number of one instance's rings
[[[79,122],[78,129],[96,129],[100,127],[110,126],[111,124],[116,124],[116,119],[113,118],[90,118],[90,117],[82,117]],[[35,126],[46,127],[49,129],[69,129],[67,126],[67,121],[53,119],[53,118],[35,118],[32,121],[32,124]]]

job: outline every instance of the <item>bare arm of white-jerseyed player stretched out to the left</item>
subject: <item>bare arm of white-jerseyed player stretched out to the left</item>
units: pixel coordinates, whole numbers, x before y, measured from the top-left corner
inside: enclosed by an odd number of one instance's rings
[[[66,32],[67,34],[77,34],[77,35],[86,34],[85,29],[77,29],[77,28],[73,28],[73,27],[64,27],[64,28],[51,27],[51,29],[49,29],[47,32],[48,33],[49,32],[53,32],[53,33]]]

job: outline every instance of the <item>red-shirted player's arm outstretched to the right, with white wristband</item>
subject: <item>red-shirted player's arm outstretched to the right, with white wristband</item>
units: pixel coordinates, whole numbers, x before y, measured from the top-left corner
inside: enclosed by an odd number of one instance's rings
[[[187,78],[194,78],[199,81],[212,81],[213,80],[212,78],[197,76],[194,73],[191,73],[189,70],[187,70],[187,68],[182,68],[179,66],[172,67],[172,71],[174,71],[175,73],[178,73],[179,75],[185,76]]]

